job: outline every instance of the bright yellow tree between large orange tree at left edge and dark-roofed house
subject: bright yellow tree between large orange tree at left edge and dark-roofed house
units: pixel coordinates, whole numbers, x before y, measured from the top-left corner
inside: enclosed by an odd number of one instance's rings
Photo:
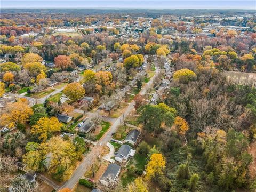
[[[62,126],[62,123],[56,117],[42,117],[31,127],[31,134],[35,135],[42,142],[45,142],[54,132],[60,131]]]

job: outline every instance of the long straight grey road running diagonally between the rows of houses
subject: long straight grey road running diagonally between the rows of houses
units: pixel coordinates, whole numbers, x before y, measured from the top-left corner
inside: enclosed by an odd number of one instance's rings
[[[156,74],[158,74],[159,71],[160,70],[156,67]],[[156,74],[153,78],[150,79],[150,81],[146,84],[146,86],[142,88],[139,94],[144,95],[149,89],[149,87],[153,86]],[[132,111],[134,104],[135,102],[132,101],[129,104],[129,106],[127,106],[127,108],[124,111],[124,117],[126,117]],[[107,144],[107,142],[111,139],[111,136],[112,136],[111,134],[113,132],[116,132],[117,128],[122,123],[123,123],[123,115],[121,115],[119,118],[116,119],[114,124],[110,127],[109,131],[105,135],[103,135],[103,137],[100,139],[98,144],[92,148],[91,152],[87,154],[85,158],[83,158],[83,161],[78,165],[77,169],[73,172],[70,179],[66,181],[64,185],[61,186],[61,188],[66,188],[66,187],[70,189],[74,188],[78,180],[81,177],[83,177],[83,175],[88,169],[90,169],[90,163],[92,162],[94,155],[99,153],[99,147]]]

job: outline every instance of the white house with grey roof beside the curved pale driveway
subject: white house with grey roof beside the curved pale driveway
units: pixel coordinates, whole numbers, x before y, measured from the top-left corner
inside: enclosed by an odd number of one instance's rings
[[[135,150],[129,145],[122,145],[115,153],[115,160],[118,162],[126,162],[128,158],[132,158],[135,154]]]

